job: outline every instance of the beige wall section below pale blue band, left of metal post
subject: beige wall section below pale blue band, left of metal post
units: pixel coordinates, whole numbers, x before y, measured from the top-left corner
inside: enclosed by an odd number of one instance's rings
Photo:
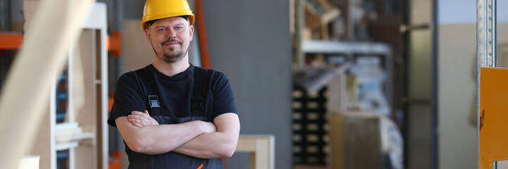
[[[476,168],[476,25],[440,24],[438,145],[440,168]],[[457,142],[460,140],[459,142]]]

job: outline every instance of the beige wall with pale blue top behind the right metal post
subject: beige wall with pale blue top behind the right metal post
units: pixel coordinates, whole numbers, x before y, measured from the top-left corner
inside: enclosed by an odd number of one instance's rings
[[[497,1],[497,43],[508,42],[508,1]],[[439,168],[478,168],[476,1],[438,3]]]

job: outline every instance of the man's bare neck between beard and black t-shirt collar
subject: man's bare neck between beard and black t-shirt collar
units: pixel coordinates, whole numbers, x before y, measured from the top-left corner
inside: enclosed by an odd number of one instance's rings
[[[161,61],[156,57],[153,65],[157,70],[159,70],[159,72],[168,76],[173,76],[181,73],[187,70],[187,68],[190,66],[188,56],[185,56],[181,61],[177,61],[175,63],[166,63],[165,61]]]

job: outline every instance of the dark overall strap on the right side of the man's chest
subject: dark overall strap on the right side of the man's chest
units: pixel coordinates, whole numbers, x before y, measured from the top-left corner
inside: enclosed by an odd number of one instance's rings
[[[194,67],[194,89],[190,99],[190,112],[193,117],[203,117],[204,113],[204,79],[205,74],[199,68]]]

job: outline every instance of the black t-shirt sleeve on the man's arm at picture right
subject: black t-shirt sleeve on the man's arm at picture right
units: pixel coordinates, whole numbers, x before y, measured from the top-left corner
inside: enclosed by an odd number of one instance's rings
[[[238,114],[231,84],[223,73],[218,73],[213,89],[213,118],[223,113]],[[212,118],[212,119],[213,119]]]

